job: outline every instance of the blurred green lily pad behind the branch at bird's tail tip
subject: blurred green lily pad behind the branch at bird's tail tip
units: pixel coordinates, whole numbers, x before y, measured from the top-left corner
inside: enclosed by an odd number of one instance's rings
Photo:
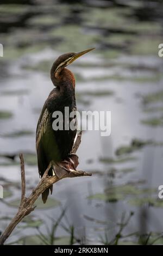
[[[9,202],[9,205],[17,208],[20,205],[20,199],[15,199]],[[48,197],[46,204],[43,204],[41,197],[39,197],[34,205],[37,206],[37,209],[47,209],[59,206],[60,202],[56,199]]]

